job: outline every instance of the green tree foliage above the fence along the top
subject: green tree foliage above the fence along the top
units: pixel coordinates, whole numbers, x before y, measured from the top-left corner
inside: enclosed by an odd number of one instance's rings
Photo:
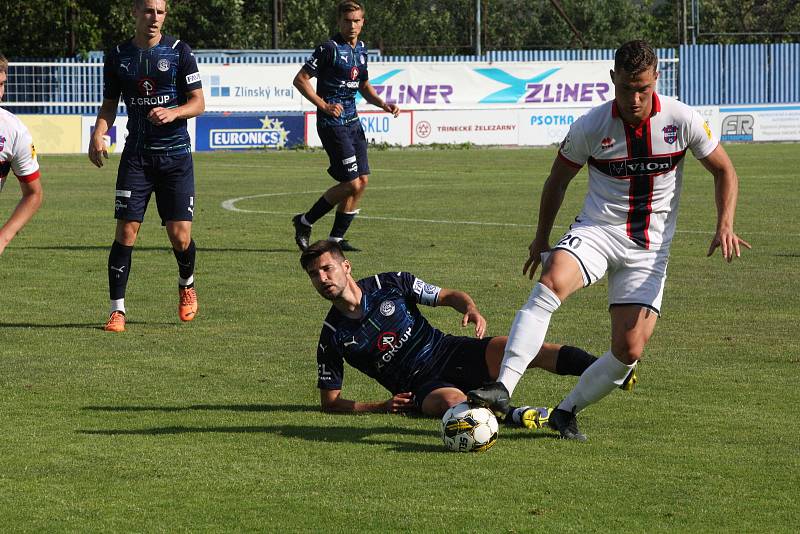
[[[698,42],[800,40],[797,0],[697,0]],[[687,3],[690,3],[687,1]],[[164,31],[196,49],[310,49],[335,32],[336,0],[169,0]],[[450,55],[475,50],[475,0],[364,0],[363,38],[383,54]],[[682,38],[680,0],[559,0],[580,39],[550,0],[481,0],[486,50],[613,48],[633,38],[659,47]],[[133,33],[133,0],[0,2],[7,56],[75,56]],[[772,35],[767,35],[767,33]],[[794,32],[794,35],[791,35]],[[777,35],[783,33],[783,35]]]

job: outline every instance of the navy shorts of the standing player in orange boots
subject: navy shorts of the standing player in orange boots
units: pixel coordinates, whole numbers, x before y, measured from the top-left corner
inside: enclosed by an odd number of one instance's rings
[[[156,194],[161,224],[191,221],[194,215],[191,153],[165,156],[123,152],[117,171],[114,217],[142,222],[151,193]]]

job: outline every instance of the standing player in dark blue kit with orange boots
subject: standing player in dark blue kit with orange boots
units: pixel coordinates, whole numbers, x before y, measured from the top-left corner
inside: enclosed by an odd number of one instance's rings
[[[108,158],[103,137],[114,124],[122,95],[128,139],[117,171],[117,228],[108,256],[111,314],[104,328],[110,332],[125,330],[131,254],[153,192],[178,262],[178,316],[191,321],[197,314],[194,166],[186,120],[205,109],[200,73],[189,46],[161,33],[165,0],[134,0],[133,16],[133,39],[106,54],[103,103],[89,144],[89,159],[102,167],[103,158]]]

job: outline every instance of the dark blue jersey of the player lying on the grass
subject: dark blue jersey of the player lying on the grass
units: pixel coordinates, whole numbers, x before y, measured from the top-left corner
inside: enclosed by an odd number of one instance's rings
[[[417,304],[435,306],[440,288],[410,273],[383,273],[359,280],[360,319],[331,307],[317,347],[317,387],[342,389],[344,362],[377,380],[392,394],[411,391],[434,376],[449,357],[446,337]]]

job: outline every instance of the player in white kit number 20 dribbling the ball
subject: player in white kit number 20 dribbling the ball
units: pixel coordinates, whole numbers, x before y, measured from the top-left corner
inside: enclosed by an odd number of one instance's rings
[[[687,150],[713,175],[717,228],[708,249],[724,260],[750,248],[733,230],[738,178],[727,153],[691,107],[655,93],[658,60],[644,41],[616,52],[616,96],[575,121],[544,185],[536,237],[523,274],[543,272],[509,333],[498,381],[468,392],[471,402],[502,411],[535,361],[551,315],[569,295],[608,273],[611,347],[581,375],[549,424],[585,441],[575,414],[611,393],[642,357],[660,314],[669,245]],[[589,164],[583,211],[558,243],[550,232],[570,180]],[[548,254],[549,251],[549,254]]]

